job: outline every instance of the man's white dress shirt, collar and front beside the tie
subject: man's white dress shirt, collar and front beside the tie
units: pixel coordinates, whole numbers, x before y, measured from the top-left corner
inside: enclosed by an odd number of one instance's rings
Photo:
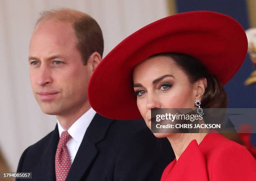
[[[69,150],[69,156],[71,159],[71,163],[73,163],[74,158],[77,154],[77,150],[83,140],[85,131],[87,130],[89,124],[91,123],[93,117],[96,112],[92,108],[90,108],[86,113],[84,113],[77,121],[70,126],[67,130],[72,138],[67,142],[67,148]],[[59,136],[61,136],[62,131],[65,131],[59,121],[57,120]]]

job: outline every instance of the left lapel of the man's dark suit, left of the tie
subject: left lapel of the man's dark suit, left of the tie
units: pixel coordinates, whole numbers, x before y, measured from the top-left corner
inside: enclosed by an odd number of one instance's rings
[[[42,181],[56,181],[55,177],[55,154],[59,142],[59,130],[56,125],[51,138],[46,146],[40,165],[40,178]],[[43,149],[43,148],[42,148]]]

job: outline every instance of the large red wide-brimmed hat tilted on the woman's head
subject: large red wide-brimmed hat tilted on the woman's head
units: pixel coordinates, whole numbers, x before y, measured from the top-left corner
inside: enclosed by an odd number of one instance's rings
[[[90,104],[108,118],[141,118],[132,85],[136,64],[158,53],[183,53],[225,85],[241,67],[247,47],[245,31],[227,15],[193,11],[165,17],[127,37],[100,62],[89,82]]]

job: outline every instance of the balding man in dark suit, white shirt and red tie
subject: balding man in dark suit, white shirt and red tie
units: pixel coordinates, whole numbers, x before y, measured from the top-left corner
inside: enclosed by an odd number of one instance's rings
[[[89,15],[42,14],[29,46],[30,78],[41,110],[56,115],[57,125],[23,152],[18,172],[36,181],[160,180],[174,158],[168,142],[141,120],[107,119],[90,107],[87,84],[102,53],[102,32]]]

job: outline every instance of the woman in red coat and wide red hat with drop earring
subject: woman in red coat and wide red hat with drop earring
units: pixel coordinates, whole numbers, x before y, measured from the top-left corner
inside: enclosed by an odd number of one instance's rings
[[[226,15],[186,12],[143,27],[115,47],[88,87],[91,106],[113,119],[151,128],[152,108],[226,108],[224,86],[247,52],[241,25]],[[134,93],[136,96],[134,96]],[[218,133],[161,133],[176,159],[161,181],[251,181],[256,162],[243,146]]]

